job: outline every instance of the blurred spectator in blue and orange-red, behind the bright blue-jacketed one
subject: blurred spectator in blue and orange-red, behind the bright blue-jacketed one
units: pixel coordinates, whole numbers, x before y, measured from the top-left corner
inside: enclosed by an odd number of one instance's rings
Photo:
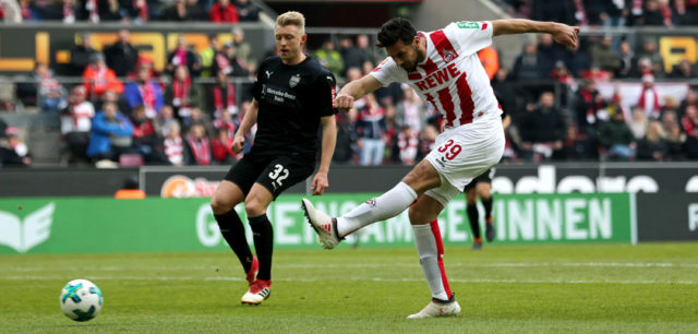
[[[129,102],[131,108],[145,107],[145,115],[155,118],[165,104],[160,85],[151,80],[148,68],[141,68],[136,73],[137,79],[128,83],[123,90],[123,98]]]

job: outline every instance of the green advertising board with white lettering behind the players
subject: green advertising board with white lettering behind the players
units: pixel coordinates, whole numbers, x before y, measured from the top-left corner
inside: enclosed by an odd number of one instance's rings
[[[336,216],[371,194],[314,196]],[[281,195],[267,215],[276,249],[320,248],[301,210],[302,195]],[[9,199],[0,200],[0,253],[160,252],[228,249],[208,199]],[[243,222],[243,205],[238,205]],[[627,193],[496,195],[496,244],[635,242],[634,196]],[[482,215],[481,215],[482,216]],[[470,243],[465,198],[438,217],[446,246]],[[481,222],[482,224],[482,222]],[[252,240],[250,229],[248,239]],[[342,242],[362,247],[410,247],[407,211],[370,225]]]

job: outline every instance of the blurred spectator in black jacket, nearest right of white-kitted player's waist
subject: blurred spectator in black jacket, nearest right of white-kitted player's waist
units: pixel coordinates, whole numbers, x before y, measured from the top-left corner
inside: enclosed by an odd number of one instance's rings
[[[540,106],[522,115],[517,128],[521,133],[521,151],[526,158],[539,162],[552,157],[553,151],[561,150],[565,138],[565,122],[555,108],[555,96],[544,92]]]

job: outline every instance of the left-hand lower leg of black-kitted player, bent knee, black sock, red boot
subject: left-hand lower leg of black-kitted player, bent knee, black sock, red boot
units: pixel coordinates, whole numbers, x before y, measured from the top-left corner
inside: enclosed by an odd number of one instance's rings
[[[242,225],[242,220],[240,220],[240,216],[238,216],[238,213],[234,211],[236,205],[243,200],[244,194],[238,184],[222,180],[218,184],[218,188],[216,188],[216,192],[210,200],[210,208],[220,228],[220,234],[236,255],[238,255],[242,269],[245,272],[248,284],[252,285],[256,281],[258,262],[257,259],[252,255],[252,251],[244,236],[244,226]]]

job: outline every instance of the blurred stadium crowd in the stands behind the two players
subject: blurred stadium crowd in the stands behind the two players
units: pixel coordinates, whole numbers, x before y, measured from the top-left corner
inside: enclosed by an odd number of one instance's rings
[[[547,13],[537,11],[539,1],[507,2],[518,14],[546,19],[539,16]],[[574,5],[559,4],[567,2]],[[212,5],[219,3],[227,0]],[[249,2],[234,1],[239,3]],[[597,3],[604,3],[606,10],[601,11]],[[628,13],[607,10],[619,3],[623,1],[559,1],[547,10],[575,10],[573,24],[606,24],[606,20],[647,24],[635,17],[635,7],[642,1],[626,4]],[[653,17],[647,12],[654,4],[665,14],[666,3],[645,1],[642,17]],[[671,4],[671,13],[685,5],[682,17],[693,20],[698,1]],[[623,20],[615,20],[616,14]],[[163,72],[154,70],[152,59],[139,55],[128,29],[120,31],[119,40],[101,51],[91,47],[89,34],[83,34],[81,44],[71,50],[71,71],[82,76],[82,84],[68,86],[46,64],[38,64],[33,73],[35,84],[21,84],[17,94],[43,112],[60,117],[63,159],[69,164],[230,164],[249,150],[236,155],[230,143],[251,99],[249,82],[261,60],[251,56],[242,29],[233,26],[231,33],[233,40],[222,45],[210,36],[209,46],[200,52],[180,38]],[[341,85],[368,74],[384,59],[370,39],[366,35],[328,38],[306,53],[332,70]],[[501,65],[493,47],[481,50],[479,57],[502,108],[513,120],[505,162],[698,159],[698,91],[689,86],[685,97],[677,98],[657,90],[666,82],[688,85],[697,69],[684,59],[666,71],[652,36],[636,43],[618,36],[586,36],[578,50],[569,50],[541,35],[522,48],[510,68]],[[215,79],[215,83],[202,84],[200,77]],[[634,96],[639,97],[622,103],[621,90],[602,94],[598,86],[615,79],[635,83]],[[412,165],[431,150],[440,132],[441,116],[407,85],[381,88],[356,106],[337,115],[335,163]],[[0,120],[0,130],[4,164],[29,165],[21,129]]]

